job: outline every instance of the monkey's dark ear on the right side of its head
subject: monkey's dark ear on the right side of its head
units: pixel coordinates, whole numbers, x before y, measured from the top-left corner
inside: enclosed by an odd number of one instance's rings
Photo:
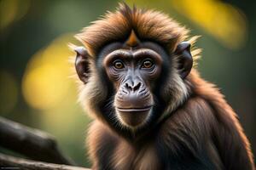
[[[180,56],[178,61],[178,70],[180,71],[181,77],[184,79],[189,75],[189,72],[193,66],[193,58],[190,53],[190,43],[189,42],[181,42],[177,45],[175,50],[175,54]]]

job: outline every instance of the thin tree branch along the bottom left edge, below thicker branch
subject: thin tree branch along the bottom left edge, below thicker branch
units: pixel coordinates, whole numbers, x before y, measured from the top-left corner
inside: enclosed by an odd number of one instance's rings
[[[0,153],[0,169],[5,169],[4,167],[9,170],[90,170],[84,167],[58,165],[42,161],[30,161]]]

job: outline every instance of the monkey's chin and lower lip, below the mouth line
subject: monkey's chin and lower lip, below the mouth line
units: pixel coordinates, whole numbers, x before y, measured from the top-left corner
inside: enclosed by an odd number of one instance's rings
[[[141,127],[147,122],[152,106],[143,108],[116,108],[119,121],[126,127]]]

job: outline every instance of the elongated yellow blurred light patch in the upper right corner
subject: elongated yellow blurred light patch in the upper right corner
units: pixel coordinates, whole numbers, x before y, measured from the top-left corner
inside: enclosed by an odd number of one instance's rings
[[[172,7],[201,26],[225,47],[241,48],[247,40],[247,22],[241,10],[219,0],[172,0]]]

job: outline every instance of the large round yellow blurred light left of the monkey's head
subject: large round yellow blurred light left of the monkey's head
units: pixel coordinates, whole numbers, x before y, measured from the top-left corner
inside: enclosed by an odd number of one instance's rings
[[[28,105],[49,110],[68,97],[67,89],[73,82],[68,78],[71,74],[68,56],[73,53],[67,48],[67,42],[72,41],[73,34],[61,36],[32,56],[22,82]]]

